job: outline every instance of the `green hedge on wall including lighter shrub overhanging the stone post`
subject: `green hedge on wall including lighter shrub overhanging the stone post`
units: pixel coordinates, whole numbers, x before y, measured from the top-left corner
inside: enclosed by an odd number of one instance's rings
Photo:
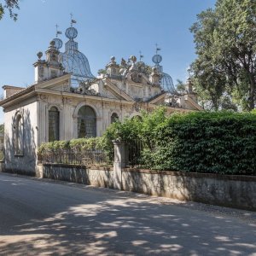
[[[165,108],[142,120],[111,125],[105,140],[143,142],[140,164],[159,170],[256,174],[256,114],[190,112],[165,116]]]

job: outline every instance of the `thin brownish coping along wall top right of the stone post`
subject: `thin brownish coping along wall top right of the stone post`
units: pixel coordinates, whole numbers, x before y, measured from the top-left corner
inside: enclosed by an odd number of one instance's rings
[[[216,178],[216,179],[223,179],[223,180],[256,182],[256,176],[248,176],[248,175],[227,175],[227,174],[202,173],[202,172],[173,172],[173,171],[159,171],[159,170],[137,169],[137,168],[123,168],[122,172],[172,175],[172,176],[180,176],[180,177],[207,177],[207,178]]]

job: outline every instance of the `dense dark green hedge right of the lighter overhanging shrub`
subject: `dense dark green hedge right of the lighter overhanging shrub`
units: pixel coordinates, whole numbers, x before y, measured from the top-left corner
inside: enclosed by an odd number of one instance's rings
[[[256,115],[174,114],[156,133],[151,157],[162,170],[256,174]]]

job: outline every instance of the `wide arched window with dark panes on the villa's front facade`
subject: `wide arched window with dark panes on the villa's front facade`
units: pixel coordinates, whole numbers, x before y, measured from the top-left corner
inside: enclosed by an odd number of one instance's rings
[[[79,137],[96,137],[96,114],[88,106],[79,109],[78,135]]]

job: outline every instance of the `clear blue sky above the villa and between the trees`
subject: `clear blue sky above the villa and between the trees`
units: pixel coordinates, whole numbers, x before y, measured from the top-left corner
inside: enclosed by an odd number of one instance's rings
[[[0,0],[0,2],[2,2]],[[18,20],[6,14],[0,20],[0,85],[33,83],[32,63],[55,38],[55,24],[62,31],[70,26],[70,13],[77,20],[79,50],[87,56],[91,72],[105,67],[110,56],[119,62],[143,52],[147,64],[159,44],[164,72],[185,80],[186,69],[195,59],[189,27],[202,10],[215,0],[21,0]],[[0,123],[3,113],[0,111]]]

